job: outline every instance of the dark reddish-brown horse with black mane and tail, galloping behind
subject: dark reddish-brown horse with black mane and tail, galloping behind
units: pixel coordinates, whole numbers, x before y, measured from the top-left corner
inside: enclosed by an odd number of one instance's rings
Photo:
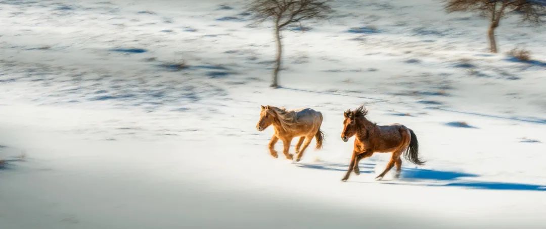
[[[341,180],[349,179],[352,171],[359,175],[358,162],[360,159],[368,158],[375,152],[393,153],[385,170],[376,177],[377,180],[381,180],[394,165],[396,165],[396,178],[400,177],[402,169],[400,155],[402,154],[406,160],[413,164],[424,164],[424,161],[421,161],[418,156],[419,143],[413,130],[401,124],[377,125],[366,119],[367,113],[364,106],[360,106],[354,111],[347,110],[345,112],[341,139],[347,142],[352,136],[356,135],[357,137],[354,140],[353,156],[347,174]]]

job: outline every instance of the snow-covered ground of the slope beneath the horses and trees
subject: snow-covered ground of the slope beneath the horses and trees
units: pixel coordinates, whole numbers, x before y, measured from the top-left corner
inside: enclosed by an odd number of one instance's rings
[[[0,228],[546,225],[545,27],[503,20],[491,55],[486,20],[440,1],[339,0],[283,33],[270,89],[272,30],[243,3],[0,1]],[[376,154],[341,182],[360,104],[426,165],[376,182]],[[321,111],[324,148],[272,158],[260,105]]]

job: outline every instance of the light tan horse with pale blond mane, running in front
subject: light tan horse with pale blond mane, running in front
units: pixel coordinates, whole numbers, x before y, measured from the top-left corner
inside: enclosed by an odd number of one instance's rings
[[[310,108],[287,111],[284,108],[262,106],[260,120],[256,125],[256,129],[263,131],[270,125],[273,125],[275,134],[273,134],[269,142],[269,152],[275,158],[277,158],[275,143],[279,139],[284,143],[283,153],[289,160],[293,158],[293,155],[288,153],[288,149],[294,137],[300,137],[298,144],[296,144],[296,154],[298,154],[296,161],[300,161],[301,156],[304,155],[304,151],[309,146],[309,143],[311,143],[313,137],[317,139],[317,149],[322,148],[324,133],[321,131],[321,112]],[[303,144],[303,147],[301,147],[301,144]]]

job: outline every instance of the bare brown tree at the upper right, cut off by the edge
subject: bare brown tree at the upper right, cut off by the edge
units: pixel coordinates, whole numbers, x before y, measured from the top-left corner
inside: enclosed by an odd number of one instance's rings
[[[488,37],[491,52],[497,52],[495,29],[501,19],[509,14],[520,16],[521,22],[535,25],[542,23],[546,15],[544,0],[446,0],[446,11],[477,11],[490,21]]]

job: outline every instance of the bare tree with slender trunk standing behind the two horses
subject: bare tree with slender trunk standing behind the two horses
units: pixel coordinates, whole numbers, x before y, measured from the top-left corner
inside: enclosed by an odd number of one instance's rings
[[[281,70],[282,59],[281,31],[301,21],[327,18],[332,11],[328,2],[330,0],[253,0],[248,5],[248,11],[257,23],[266,20],[274,22],[277,58],[271,87],[278,87],[278,72]]]

